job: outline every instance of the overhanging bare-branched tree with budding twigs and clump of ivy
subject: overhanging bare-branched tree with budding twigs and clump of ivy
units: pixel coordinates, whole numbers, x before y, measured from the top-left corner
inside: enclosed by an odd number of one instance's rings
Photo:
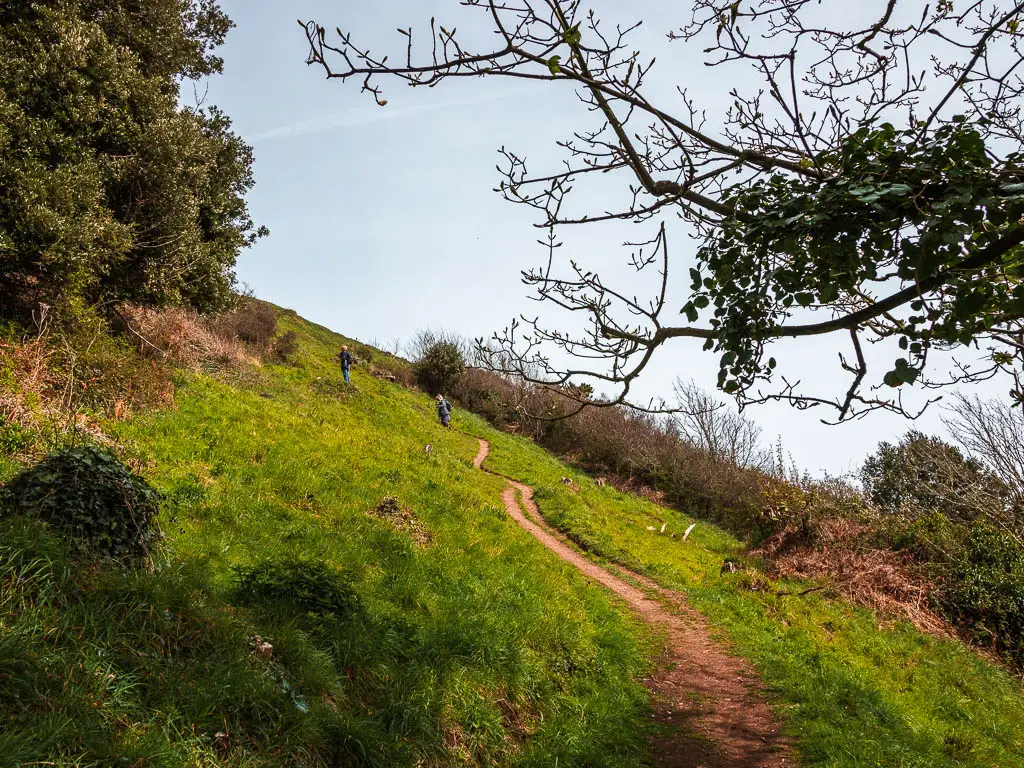
[[[382,106],[385,78],[554,81],[580,95],[581,124],[558,141],[563,163],[537,172],[503,150],[500,190],[549,230],[548,257],[525,282],[588,319],[573,334],[520,318],[494,340],[497,368],[553,387],[615,386],[613,404],[655,351],[695,338],[741,403],[912,416],[906,388],[1000,372],[1024,401],[1024,3],[870,0],[837,12],[811,0],[691,0],[667,44],[729,73],[717,112],[696,73],[675,91],[649,84],[654,56],[631,44],[639,23],[602,24],[578,0],[452,4],[464,8],[461,32],[430,19],[424,42],[403,26],[387,54],[304,23],[308,62]],[[481,28],[493,44],[477,42]],[[609,177],[622,194],[589,208],[595,197],[578,190],[604,190]],[[627,244],[629,263],[654,273],[648,298],[602,280],[586,255],[559,256],[560,228],[614,220],[649,222]],[[676,254],[679,236],[696,248]],[[670,265],[690,276],[678,303]],[[794,381],[772,354],[780,339],[827,334],[846,345],[841,391]],[[885,350],[881,368],[868,342]],[[931,376],[930,358],[950,350],[966,358]],[[563,353],[583,364],[559,365]]]

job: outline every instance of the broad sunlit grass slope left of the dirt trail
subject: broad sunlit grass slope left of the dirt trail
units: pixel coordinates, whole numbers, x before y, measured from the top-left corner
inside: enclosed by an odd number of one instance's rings
[[[282,325],[303,368],[182,376],[112,425],[166,496],[153,571],[0,523],[0,764],[639,766],[646,633],[507,517],[425,396],[358,368],[349,392],[340,338]],[[368,514],[385,496],[429,546]],[[232,568],[268,560],[329,563],[357,609],[239,600]]]

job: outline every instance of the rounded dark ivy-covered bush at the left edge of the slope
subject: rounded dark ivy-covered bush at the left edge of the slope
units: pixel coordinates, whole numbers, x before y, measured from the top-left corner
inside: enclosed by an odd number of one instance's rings
[[[79,551],[138,561],[157,538],[160,497],[112,454],[73,447],[15,475],[0,509],[48,523]]]

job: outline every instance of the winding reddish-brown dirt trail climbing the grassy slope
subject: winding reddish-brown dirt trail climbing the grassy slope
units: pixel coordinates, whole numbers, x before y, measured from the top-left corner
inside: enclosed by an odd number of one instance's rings
[[[480,440],[473,466],[482,470],[488,451],[486,440]],[[545,524],[534,502],[532,488],[505,479],[509,484],[502,493],[502,501],[522,528],[588,579],[614,592],[645,622],[665,634],[666,654],[659,659],[655,676],[645,681],[654,694],[653,717],[663,726],[658,729],[662,735],[651,743],[656,765],[662,768],[794,768],[797,765],[790,744],[778,732],[757,674],[745,662],[718,646],[706,620],[686,604],[682,595],[639,573],[618,569],[644,588],[640,589],[591,562]]]

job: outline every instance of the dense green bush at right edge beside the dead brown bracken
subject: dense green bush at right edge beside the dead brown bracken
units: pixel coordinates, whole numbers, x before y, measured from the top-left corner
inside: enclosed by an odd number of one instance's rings
[[[956,555],[940,605],[973,639],[1024,665],[1024,548],[975,526]]]

